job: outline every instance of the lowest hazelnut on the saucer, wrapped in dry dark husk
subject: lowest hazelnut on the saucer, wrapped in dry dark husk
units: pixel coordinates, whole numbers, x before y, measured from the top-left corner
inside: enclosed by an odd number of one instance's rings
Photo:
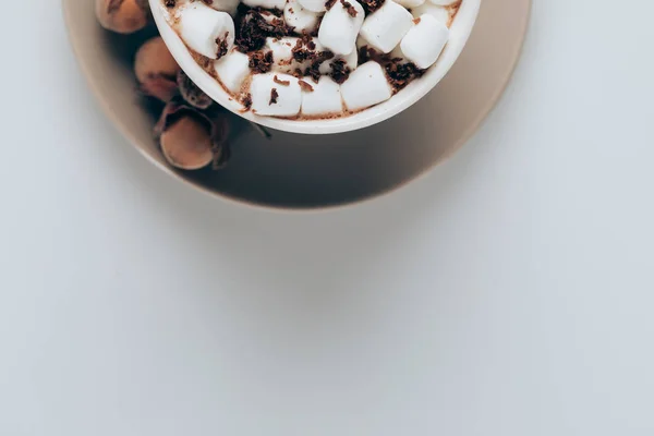
[[[219,111],[203,112],[174,97],[155,126],[164,157],[183,170],[196,170],[214,164],[220,168],[229,158],[229,125]]]

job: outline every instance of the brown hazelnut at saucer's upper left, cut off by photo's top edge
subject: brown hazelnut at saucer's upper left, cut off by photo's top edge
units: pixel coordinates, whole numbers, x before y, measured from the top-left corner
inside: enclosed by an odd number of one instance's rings
[[[141,31],[148,22],[147,0],[95,0],[100,25],[119,34]]]

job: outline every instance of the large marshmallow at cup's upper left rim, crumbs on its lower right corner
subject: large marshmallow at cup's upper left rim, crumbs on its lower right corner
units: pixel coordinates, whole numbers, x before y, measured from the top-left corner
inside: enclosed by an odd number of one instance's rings
[[[227,12],[196,1],[180,9],[179,20],[180,36],[184,43],[209,59],[218,58],[217,39],[225,39],[228,50],[234,44],[234,22]]]

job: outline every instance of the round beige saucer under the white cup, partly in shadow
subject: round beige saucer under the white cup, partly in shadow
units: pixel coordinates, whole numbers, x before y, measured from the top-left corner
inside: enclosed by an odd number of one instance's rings
[[[93,1],[63,0],[63,9],[80,64],[106,113],[159,168],[223,198],[278,208],[319,208],[390,192],[465,143],[511,76],[531,0],[484,0],[452,70],[403,113],[338,135],[272,132],[272,138],[265,140],[245,130],[232,144],[230,165],[218,172],[180,172],[167,166],[152,138],[153,117],[134,95],[134,37],[102,31],[95,22]]]

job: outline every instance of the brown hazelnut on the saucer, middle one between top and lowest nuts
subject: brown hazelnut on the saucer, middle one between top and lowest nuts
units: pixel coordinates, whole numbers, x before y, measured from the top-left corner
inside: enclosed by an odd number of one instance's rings
[[[159,36],[147,40],[136,52],[134,73],[145,95],[170,101],[178,92],[179,71],[180,66]]]

